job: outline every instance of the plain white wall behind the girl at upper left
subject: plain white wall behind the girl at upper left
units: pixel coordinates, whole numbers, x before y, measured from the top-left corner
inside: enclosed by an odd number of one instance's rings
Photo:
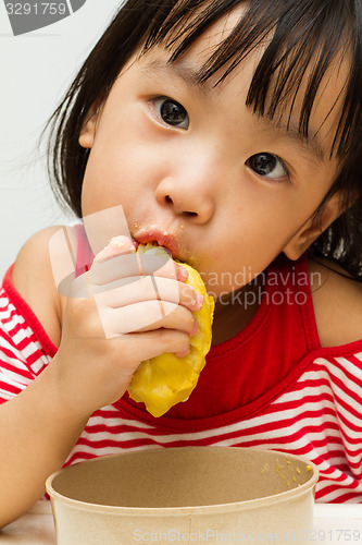
[[[0,283],[33,233],[71,220],[49,189],[38,138],[120,4],[87,0],[70,17],[14,37],[0,1]]]

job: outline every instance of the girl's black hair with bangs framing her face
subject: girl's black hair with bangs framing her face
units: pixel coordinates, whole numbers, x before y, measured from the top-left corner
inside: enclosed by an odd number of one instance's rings
[[[304,82],[299,132],[308,138],[311,110],[333,61],[344,57],[350,72],[330,155],[340,169],[319,213],[336,192],[345,211],[313,244],[314,255],[338,261],[362,280],[362,0],[128,0],[98,41],[66,96],[49,120],[48,168],[61,204],[82,217],[80,193],[88,149],[78,144],[91,107],[104,100],[122,68],[141,48],[162,44],[174,62],[215,21],[245,3],[246,11],[199,73],[200,81],[221,73],[219,83],[266,38],[247,98],[257,114],[275,119],[289,108]],[[221,71],[221,72],[219,72]]]

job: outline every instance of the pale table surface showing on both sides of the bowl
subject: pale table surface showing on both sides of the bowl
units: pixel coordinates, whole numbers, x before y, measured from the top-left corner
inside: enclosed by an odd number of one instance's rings
[[[292,544],[294,536],[285,543]],[[314,507],[314,529],[305,544],[340,545],[362,543],[362,505],[322,505]],[[0,545],[57,545],[50,501],[40,501],[0,531]]]

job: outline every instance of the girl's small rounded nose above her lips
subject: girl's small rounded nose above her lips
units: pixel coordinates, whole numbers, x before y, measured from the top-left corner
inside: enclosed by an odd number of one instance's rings
[[[217,191],[213,185],[215,173],[194,170],[167,175],[155,190],[155,198],[161,206],[172,207],[176,216],[189,217],[194,223],[208,222],[215,209]]]

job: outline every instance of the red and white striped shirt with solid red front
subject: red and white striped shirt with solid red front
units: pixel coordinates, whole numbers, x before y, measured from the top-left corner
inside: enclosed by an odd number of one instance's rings
[[[92,414],[66,464],[160,447],[276,449],[317,465],[317,501],[361,502],[362,340],[322,348],[301,281],[307,261],[292,274],[283,267],[269,269],[248,326],[212,348],[188,401],[154,419],[125,395]],[[26,388],[55,352],[9,269],[0,291],[0,402]]]

